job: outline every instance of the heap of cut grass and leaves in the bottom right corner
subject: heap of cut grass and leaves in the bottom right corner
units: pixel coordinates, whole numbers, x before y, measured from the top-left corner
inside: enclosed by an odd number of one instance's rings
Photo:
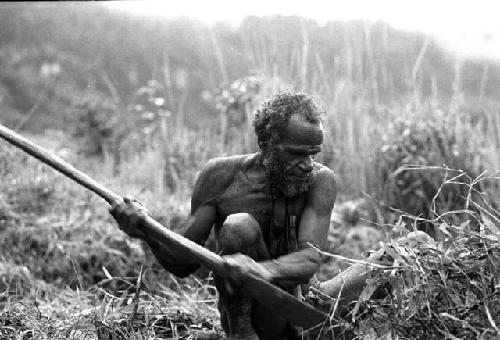
[[[500,322],[500,233],[442,225],[449,238],[384,244],[394,258],[390,272],[374,276],[353,310],[362,338],[496,339]],[[391,287],[371,299],[375,287]]]

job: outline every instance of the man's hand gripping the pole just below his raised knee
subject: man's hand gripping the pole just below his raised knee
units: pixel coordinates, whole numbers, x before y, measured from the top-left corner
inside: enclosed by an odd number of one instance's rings
[[[245,274],[254,275],[267,282],[273,279],[273,273],[269,267],[265,264],[255,262],[247,255],[225,255],[223,259],[228,278],[236,285],[240,285],[246,279]]]

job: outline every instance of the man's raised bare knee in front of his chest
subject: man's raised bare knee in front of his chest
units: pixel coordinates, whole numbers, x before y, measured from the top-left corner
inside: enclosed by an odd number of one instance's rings
[[[219,250],[223,254],[250,255],[262,237],[259,222],[250,214],[229,215],[219,234]]]

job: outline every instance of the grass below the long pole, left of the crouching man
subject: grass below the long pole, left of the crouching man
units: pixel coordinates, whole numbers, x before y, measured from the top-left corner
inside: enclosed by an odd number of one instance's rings
[[[210,279],[176,279],[103,201],[11,147],[0,153],[0,338],[220,338]],[[165,224],[185,213],[174,200],[150,206]]]

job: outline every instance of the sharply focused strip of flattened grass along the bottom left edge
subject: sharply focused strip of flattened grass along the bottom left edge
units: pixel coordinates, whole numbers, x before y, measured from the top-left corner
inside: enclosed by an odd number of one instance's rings
[[[143,279],[146,277],[142,277]],[[26,267],[3,264],[2,339],[218,339],[215,288],[187,280],[150,290],[138,278],[109,277],[86,289],[56,288]],[[113,285],[123,287],[112,289]]]

